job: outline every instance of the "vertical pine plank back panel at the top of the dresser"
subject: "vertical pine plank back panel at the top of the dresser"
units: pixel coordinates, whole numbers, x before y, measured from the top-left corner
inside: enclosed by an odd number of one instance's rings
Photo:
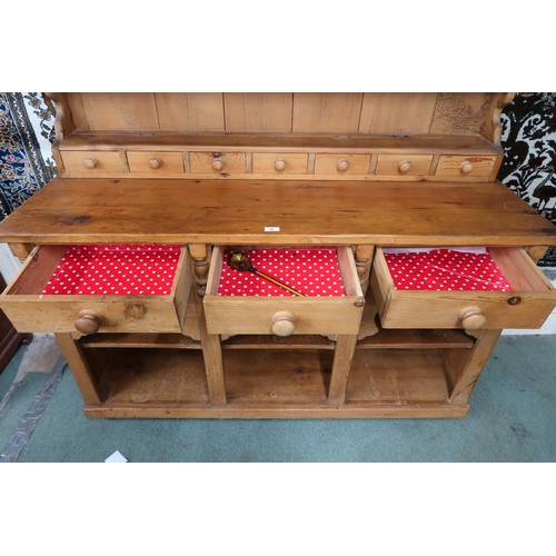
[[[331,131],[473,133],[488,126],[499,93],[436,92],[71,92],[83,130]]]

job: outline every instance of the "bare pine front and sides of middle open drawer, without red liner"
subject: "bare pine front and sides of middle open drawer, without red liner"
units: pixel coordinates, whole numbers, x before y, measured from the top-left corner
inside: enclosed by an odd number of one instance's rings
[[[203,298],[209,334],[357,334],[365,305],[351,250],[338,248],[344,297],[218,296],[224,247],[216,247]]]

